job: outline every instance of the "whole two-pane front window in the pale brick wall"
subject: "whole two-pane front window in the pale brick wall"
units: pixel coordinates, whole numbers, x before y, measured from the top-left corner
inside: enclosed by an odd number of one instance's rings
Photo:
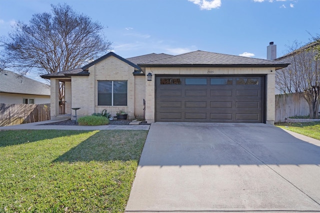
[[[127,105],[127,81],[98,80],[98,105]]]

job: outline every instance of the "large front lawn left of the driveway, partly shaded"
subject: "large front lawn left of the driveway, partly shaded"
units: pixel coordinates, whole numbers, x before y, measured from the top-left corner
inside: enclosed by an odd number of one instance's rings
[[[146,134],[0,131],[0,212],[123,212]]]

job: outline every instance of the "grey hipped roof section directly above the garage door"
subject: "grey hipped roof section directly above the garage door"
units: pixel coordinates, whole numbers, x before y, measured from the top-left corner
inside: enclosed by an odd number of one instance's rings
[[[286,67],[288,63],[196,50],[137,64],[141,67]]]

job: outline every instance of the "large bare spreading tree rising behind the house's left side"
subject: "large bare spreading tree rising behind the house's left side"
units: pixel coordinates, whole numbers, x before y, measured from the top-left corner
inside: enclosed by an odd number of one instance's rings
[[[67,4],[51,7],[51,13],[36,13],[28,24],[18,21],[7,37],[0,38],[0,69],[59,72],[88,63],[110,47],[99,22],[76,13]]]

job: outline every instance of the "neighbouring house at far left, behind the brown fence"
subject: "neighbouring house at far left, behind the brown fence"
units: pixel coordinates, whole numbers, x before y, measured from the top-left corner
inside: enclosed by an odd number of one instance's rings
[[[49,103],[50,87],[8,70],[0,71],[0,103]]]

